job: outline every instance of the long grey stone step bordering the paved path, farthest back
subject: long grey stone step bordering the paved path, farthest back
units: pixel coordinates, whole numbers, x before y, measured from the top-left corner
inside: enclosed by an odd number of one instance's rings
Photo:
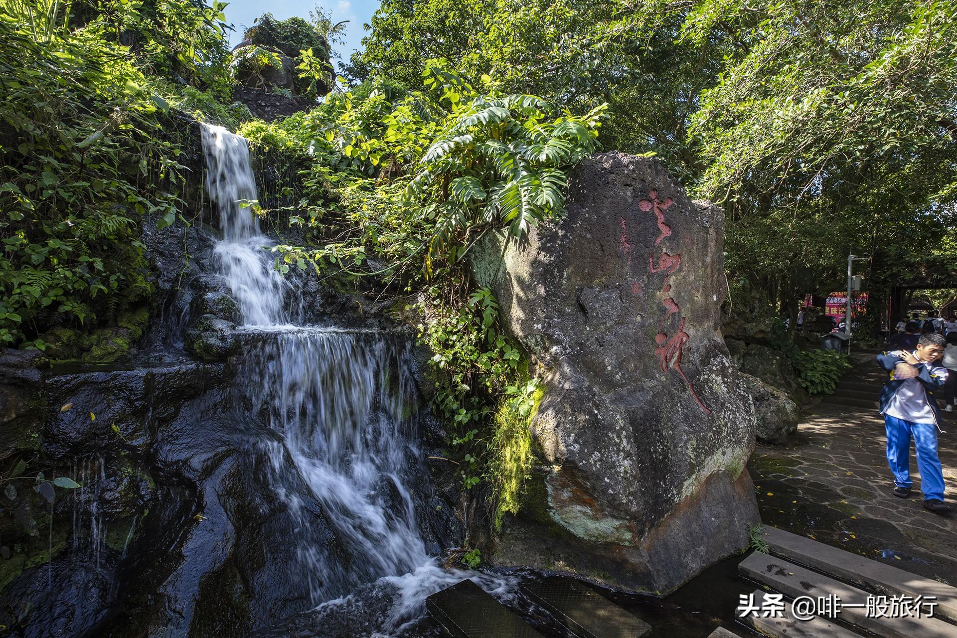
[[[936,596],[935,616],[957,621],[957,587],[911,574],[898,567],[871,561],[843,549],[764,526],[761,538],[771,552],[830,576],[892,596]]]

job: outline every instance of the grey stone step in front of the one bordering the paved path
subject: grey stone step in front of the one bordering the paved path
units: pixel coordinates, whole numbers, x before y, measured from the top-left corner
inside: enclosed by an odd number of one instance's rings
[[[754,552],[741,561],[738,570],[747,578],[767,584],[790,598],[809,596],[816,601],[834,595],[844,605],[835,614],[836,618],[866,629],[880,638],[957,638],[957,626],[937,618],[869,617],[864,606],[868,592],[777,556]],[[926,610],[924,607],[924,612]]]

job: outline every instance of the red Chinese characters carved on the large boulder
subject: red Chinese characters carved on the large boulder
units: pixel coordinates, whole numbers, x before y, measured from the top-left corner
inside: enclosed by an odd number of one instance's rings
[[[658,200],[657,190],[653,189],[648,193],[648,199],[643,199],[638,202],[638,209],[643,212],[655,212],[657,217],[657,228],[658,236],[655,239],[655,246],[658,246],[665,237],[671,236],[671,226],[664,221],[664,211],[668,209],[674,202],[671,197],[666,198],[663,202]],[[628,228],[626,226],[625,218],[621,218],[621,237],[619,239],[619,248],[623,256],[628,260],[628,266],[632,265],[632,243],[628,238]],[[666,251],[661,251],[661,254],[658,255],[657,265],[655,263],[655,253],[654,251],[648,255],[648,269],[652,273],[664,273],[664,280],[661,284],[661,293],[667,295],[671,292],[671,283],[668,281],[668,278],[673,275],[681,266],[681,255],[680,254],[671,254]],[[633,283],[632,291],[640,291],[640,284]],[[635,293],[637,294],[637,293]],[[701,401],[701,397],[698,396],[698,392],[695,391],[694,385],[691,384],[691,381],[688,379],[688,376],[684,373],[684,369],[681,367],[681,357],[684,354],[684,344],[691,339],[687,332],[684,330],[684,324],[687,321],[687,318],[680,316],[678,328],[675,330],[674,334],[669,338],[668,333],[664,332],[665,321],[670,319],[673,315],[679,315],[681,308],[678,303],[675,301],[674,297],[665,297],[661,302],[665,307],[665,314],[661,317],[661,320],[658,322],[658,332],[655,336],[655,343],[657,347],[655,348],[655,356],[660,362],[661,371],[665,374],[668,373],[669,368],[676,370],[680,375],[681,379],[684,381],[685,385],[688,386],[688,390],[691,392],[691,395],[695,398],[695,401],[701,406],[701,409],[711,414],[711,409],[704,405]]]

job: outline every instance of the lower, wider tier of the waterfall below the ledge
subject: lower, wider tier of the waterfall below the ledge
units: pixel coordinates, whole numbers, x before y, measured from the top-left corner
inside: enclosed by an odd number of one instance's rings
[[[241,363],[253,412],[283,434],[269,446],[272,471],[292,459],[351,557],[348,572],[329,579],[337,557],[300,548],[300,561],[323,575],[310,586],[314,603],[429,561],[408,484],[419,455],[404,416],[415,401],[407,350],[374,333],[283,330],[251,341]],[[297,498],[287,505],[310,524]]]

